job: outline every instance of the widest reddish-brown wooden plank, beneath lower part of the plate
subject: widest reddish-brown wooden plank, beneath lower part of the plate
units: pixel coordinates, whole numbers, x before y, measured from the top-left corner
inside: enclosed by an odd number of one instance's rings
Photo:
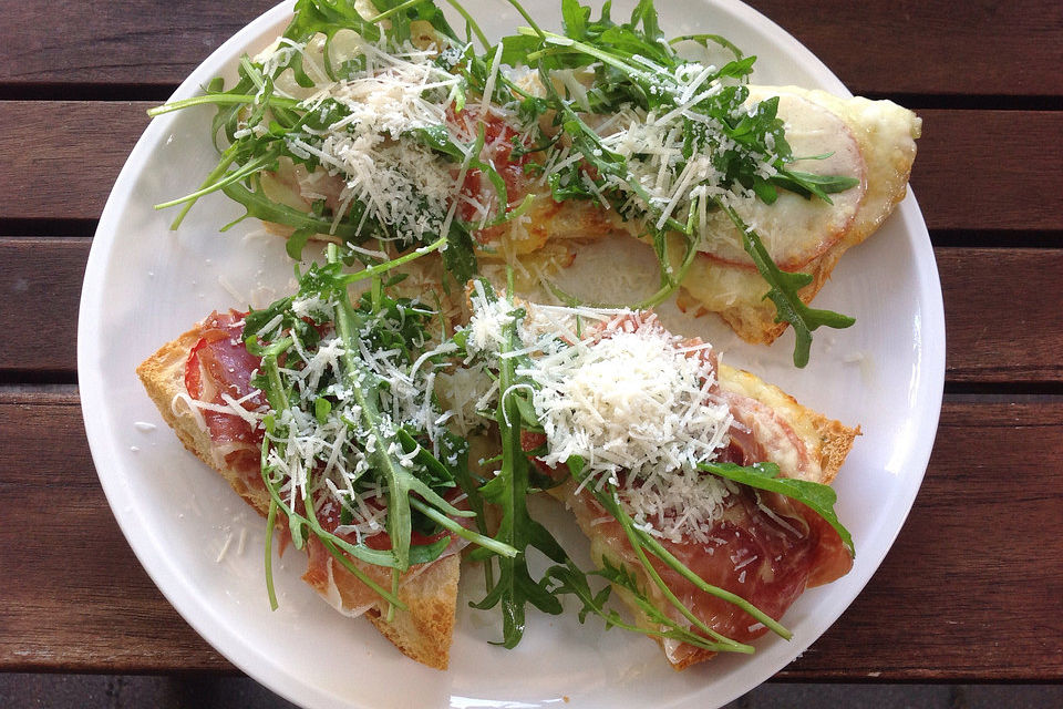
[[[230,669],[123,541],[74,395],[0,394],[0,670]],[[947,403],[886,563],[782,677],[1063,680],[1060,460],[1063,403]]]

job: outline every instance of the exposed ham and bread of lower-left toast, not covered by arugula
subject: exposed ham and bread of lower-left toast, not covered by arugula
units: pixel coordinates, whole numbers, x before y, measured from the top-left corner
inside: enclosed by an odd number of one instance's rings
[[[218,472],[260,515],[269,510],[269,493],[259,472],[262,432],[231,409],[223,393],[248,414],[264,401],[251,389],[258,366],[241,341],[240,314],[213,314],[145,360],[137,374],[163,419],[185,448]],[[230,411],[220,411],[226,403]],[[197,404],[206,404],[197,405]],[[328,521],[328,515],[324,515]],[[333,521],[334,522],[334,521]],[[278,524],[286,527],[286,525]],[[400,650],[413,659],[445,669],[454,633],[460,555],[451,545],[430,564],[414,565],[399,583],[399,598],[409,610],[386,619],[386,603],[370,590],[311,537],[303,579],[344,615],[364,615]],[[362,573],[390,585],[390,571],[351,559]],[[383,576],[381,576],[383,574]],[[265,584],[264,584],[264,599]]]

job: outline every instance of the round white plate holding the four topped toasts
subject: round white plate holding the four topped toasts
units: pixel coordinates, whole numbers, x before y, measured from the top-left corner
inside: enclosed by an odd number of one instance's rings
[[[559,13],[553,1],[527,4],[536,6],[541,18]],[[518,24],[502,0],[467,6],[488,34]],[[847,95],[805,48],[739,2],[658,6],[669,33],[721,32],[755,53],[758,83]],[[236,58],[268,43],[289,12],[290,6],[281,6],[249,24],[175,97],[194,94],[217,74],[231,75]],[[557,20],[546,22],[551,23]],[[177,233],[167,229],[173,210],[152,209],[189,192],[213,166],[211,112],[184,111],[154,121],[122,169],[85,273],[78,368],[93,460],[130,545],[182,616],[248,675],[307,707],[711,707],[793,660],[878,567],[922,480],[945,372],[940,286],[910,194],[879,234],[846,255],[821,294],[818,306],[854,315],[857,323],[818,331],[806,370],[788,363],[791,336],[768,349],[735,345],[724,335],[718,340],[732,363],[864,429],[836,484],[840,517],[856,540],[856,565],[791,608],[784,621],[794,631],[792,641],[765,637],[753,657],[720,657],[675,674],[649,640],[619,630],[606,634],[594,623],[580,626],[575,614],[530,613],[524,643],[504,650],[487,643],[498,637],[498,628],[486,614],[462,603],[451,669],[440,672],[403,658],[364,620],[342,618],[326,606],[299,580],[303,561],[298,553],[280,564],[280,609],[270,613],[264,523],[183,450],[133,372],[157,346],[210,310],[248,299],[261,306],[292,284],[279,239],[256,237],[250,222],[218,234],[241,213],[224,197],[198,204]],[[571,526],[561,517],[554,526],[568,543]],[[479,598],[482,580],[468,576],[464,598]]]

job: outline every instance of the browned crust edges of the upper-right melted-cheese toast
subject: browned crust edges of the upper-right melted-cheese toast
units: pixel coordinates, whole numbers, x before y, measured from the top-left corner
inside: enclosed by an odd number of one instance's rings
[[[868,167],[867,189],[852,226],[836,244],[801,267],[813,278],[798,291],[802,301],[808,304],[826,284],[842,255],[874,234],[904,199],[922,122],[890,101],[839,99],[825,91],[797,86],[777,86],[772,92],[801,96],[842,119]],[[743,340],[770,345],[789,326],[775,322],[775,306],[764,298],[767,290],[752,263],[730,265],[700,254],[683,279],[679,304],[684,310],[718,312]]]

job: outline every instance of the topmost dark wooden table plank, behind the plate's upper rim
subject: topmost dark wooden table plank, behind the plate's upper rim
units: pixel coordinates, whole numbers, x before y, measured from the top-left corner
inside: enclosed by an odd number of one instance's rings
[[[272,4],[272,0],[235,4],[132,0],[71,4],[56,13],[43,0],[2,0],[0,83],[175,85]],[[857,93],[1063,93],[1057,71],[1063,60],[1060,3],[753,0],[750,4],[792,32]],[[556,10],[543,14],[556,16]],[[696,27],[719,29],[711,13]]]

